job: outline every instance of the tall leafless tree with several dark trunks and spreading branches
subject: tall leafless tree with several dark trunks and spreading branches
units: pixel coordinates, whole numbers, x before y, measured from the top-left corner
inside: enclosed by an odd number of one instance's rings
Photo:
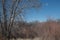
[[[8,2],[10,1],[10,2]],[[38,8],[41,6],[39,0],[1,0],[2,2],[2,10],[3,10],[3,26],[2,35],[5,38],[10,40],[11,28],[13,27],[14,21],[17,16],[19,16],[20,20],[23,20],[23,10],[29,8]],[[0,22],[2,22],[0,20]]]

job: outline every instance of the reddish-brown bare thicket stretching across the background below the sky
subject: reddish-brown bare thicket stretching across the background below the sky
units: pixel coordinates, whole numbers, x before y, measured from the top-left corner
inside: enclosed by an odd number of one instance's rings
[[[2,24],[3,25],[3,24]],[[1,27],[1,26],[0,26]],[[0,28],[0,36],[2,30]],[[3,35],[4,37],[5,35]],[[36,38],[42,40],[60,40],[60,21],[48,20],[46,22],[14,22],[11,28],[10,38]]]

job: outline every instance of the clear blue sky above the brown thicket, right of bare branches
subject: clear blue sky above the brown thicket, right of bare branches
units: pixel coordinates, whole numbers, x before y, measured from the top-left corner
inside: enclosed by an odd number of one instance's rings
[[[60,19],[60,0],[42,0],[42,8],[26,11],[27,21],[46,21],[47,18]]]

